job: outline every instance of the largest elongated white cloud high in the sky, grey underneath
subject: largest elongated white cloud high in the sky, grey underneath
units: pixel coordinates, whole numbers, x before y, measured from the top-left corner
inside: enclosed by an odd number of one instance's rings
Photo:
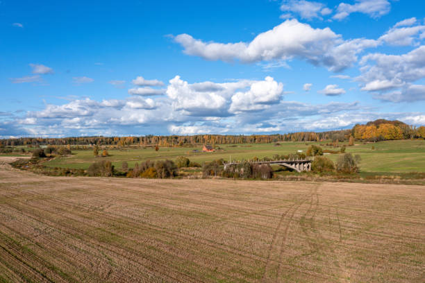
[[[191,35],[177,35],[184,53],[206,60],[252,63],[270,60],[301,58],[314,65],[324,65],[331,71],[342,71],[356,62],[358,53],[376,47],[376,40],[344,41],[330,28],[312,28],[297,19],[288,19],[272,30],[260,33],[251,42],[203,42]]]

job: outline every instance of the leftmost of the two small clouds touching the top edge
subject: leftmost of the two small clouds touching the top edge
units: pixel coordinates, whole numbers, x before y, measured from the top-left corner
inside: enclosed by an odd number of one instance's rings
[[[306,0],[285,0],[282,2],[281,10],[297,14],[302,19],[322,19],[321,15],[329,15],[332,12],[323,3]]]

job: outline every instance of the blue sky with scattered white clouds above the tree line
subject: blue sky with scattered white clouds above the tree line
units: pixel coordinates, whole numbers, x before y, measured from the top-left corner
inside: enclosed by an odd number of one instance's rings
[[[424,17],[413,0],[0,0],[0,137],[424,125]]]

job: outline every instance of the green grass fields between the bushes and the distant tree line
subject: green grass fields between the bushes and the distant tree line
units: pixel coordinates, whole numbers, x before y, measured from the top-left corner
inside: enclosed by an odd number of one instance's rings
[[[222,145],[222,151],[215,153],[193,153],[193,148],[160,148],[156,152],[153,148],[146,149],[126,149],[111,150],[110,157],[103,157],[104,160],[110,160],[117,168],[121,168],[123,161],[128,162],[133,167],[135,162],[143,160],[171,159],[174,160],[179,155],[184,155],[194,162],[208,162],[211,160],[223,158],[224,160],[242,160],[252,157],[272,157],[275,154],[283,155],[295,153],[298,150],[306,151],[308,145],[317,143],[303,142],[281,142],[281,146],[274,144],[238,144]],[[374,146],[374,150],[372,150]],[[331,150],[339,148],[324,147]],[[368,144],[356,144],[347,147],[347,152],[359,154],[362,157],[360,169],[365,172],[425,172],[425,141],[424,140],[402,140],[402,141],[381,141]],[[326,155],[332,160],[336,160],[338,155]],[[99,160],[94,157],[92,151],[74,151],[70,157],[58,157],[46,162],[47,166],[58,166],[67,168],[87,169],[92,162]]]

